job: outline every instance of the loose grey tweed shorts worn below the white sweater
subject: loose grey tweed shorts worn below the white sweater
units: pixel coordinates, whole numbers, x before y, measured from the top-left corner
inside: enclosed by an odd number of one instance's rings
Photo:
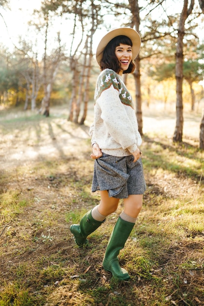
[[[133,160],[133,155],[117,157],[105,153],[95,159],[92,192],[107,190],[109,197],[116,198],[143,195],[146,183],[142,159]]]

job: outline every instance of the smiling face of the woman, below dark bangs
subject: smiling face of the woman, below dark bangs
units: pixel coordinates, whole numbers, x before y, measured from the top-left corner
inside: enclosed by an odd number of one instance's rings
[[[128,44],[120,44],[116,47],[115,54],[121,63],[121,71],[119,74],[122,75],[122,72],[127,70],[132,60],[132,47]]]

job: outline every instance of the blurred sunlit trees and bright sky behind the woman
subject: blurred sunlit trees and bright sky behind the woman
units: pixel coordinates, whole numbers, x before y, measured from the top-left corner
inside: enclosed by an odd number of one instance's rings
[[[0,0],[5,29],[11,2]],[[139,130],[143,134],[143,104],[162,101],[164,108],[176,109],[172,137],[180,142],[184,105],[195,111],[204,95],[203,13],[204,0],[41,1],[26,35],[13,48],[0,46],[0,105],[49,116],[50,105],[63,104],[68,120],[84,124],[100,72],[93,57],[97,43],[110,28],[133,27],[142,46],[133,76],[124,81],[135,100]],[[203,123],[201,147],[202,129]]]

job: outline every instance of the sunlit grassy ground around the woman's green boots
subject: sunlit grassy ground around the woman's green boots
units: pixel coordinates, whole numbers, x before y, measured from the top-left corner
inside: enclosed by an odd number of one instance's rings
[[[15,134],[22,152],[30,143],[36,151],[48,148],[54,138],[61,150],[1,170],[0,306],[203,305],[203,152],[159,133],[144,136],[147,191],[120,252],[131,279],[119,282],[103,270],[102,258],[122,201],[89,243],[78,247],[69,226],[100,200],[91,193],[89,140],[61,118],[31,119],[20,117],[18,128],[16,120],[6,119],[1,148],[12,145]],[[66,150],[60,131],[73,133]]]

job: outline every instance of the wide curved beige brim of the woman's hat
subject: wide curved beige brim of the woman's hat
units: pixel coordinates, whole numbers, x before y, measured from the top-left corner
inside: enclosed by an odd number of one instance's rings
[[[133,28],[117,28],[114,30],[109,31],[105,36],[103,36],[102,40],[100,41],[97,50],[96,50],[96,60],[100,66],[102,60],[103,50],[106,45],[116,36],[124,35],[131,39],[132,41],[132,60],[137,57],[138,53],[140,52],[141,46],[141,38],[137,31]]]

